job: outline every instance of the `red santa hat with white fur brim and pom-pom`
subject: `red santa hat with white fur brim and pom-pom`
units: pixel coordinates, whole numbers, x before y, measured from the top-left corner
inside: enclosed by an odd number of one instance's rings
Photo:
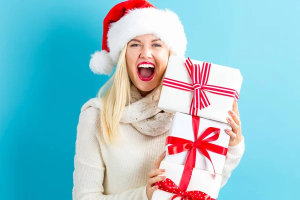
[[[104,18],[102,50],[91,55],[89,68],[110,75],[124,45],[143,34],[155,35],[174,55],[184,56],[187,41],[173,11],[157,9],[146,0],[126,0],[113,6]]]

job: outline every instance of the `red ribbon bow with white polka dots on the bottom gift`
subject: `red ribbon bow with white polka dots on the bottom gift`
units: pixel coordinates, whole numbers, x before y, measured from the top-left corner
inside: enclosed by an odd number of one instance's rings
[[[208,194],[202,191],[184,191],[180,189],[171,179],[166,178],[164,181],[156,182],[155,185],[158,186],[158,189],[161,189],[166,192],[174,193],[171,200],[181,196],[181,200],[215,200],[216,198],[211,198]]]

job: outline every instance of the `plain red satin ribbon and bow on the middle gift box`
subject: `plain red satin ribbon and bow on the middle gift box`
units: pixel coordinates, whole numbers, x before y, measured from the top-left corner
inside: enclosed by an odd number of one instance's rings
[[[191,177],[192,168],[195,166],[196,149],[200,150],[200,152],[209,159],[209,161],[211,162],[212,167],[213,167],[214,175],[215,175],[214,166],[213,166],[213,163],[211,161],[211,158],[210,158],[207,150],[210,150],[212,152],[215,152],[215,153],[218,153],[221,155],[227,154],[227,148],[216,145],[216,144],[209,143],[209,141],[215,141],[218,139],[220,129],[215,128],[215,127],[208,127],[200,135],[200,137],[197,138],[198,130],[199,130],[199,123],[200,123],[200,117],[192,116],[192,127],[193,127],[195,141],[183,139],[180,137],[174,137],[174,136],[167,136],[166,140],[165,140],[165,145],[172,144],[167,147],[169,154],[176,154],[176,153],[180,153],[182,151],[189,150],[189,153],[186,158],[186,162],[184,164],[181,181],[179,184],[179,187],[183,190],[186,190],[189,180],[190,180],[190,177]],[[208,136],[210,133],[212,133],[214,131],[216,131],[216,134],[204,139],[206,136]]]

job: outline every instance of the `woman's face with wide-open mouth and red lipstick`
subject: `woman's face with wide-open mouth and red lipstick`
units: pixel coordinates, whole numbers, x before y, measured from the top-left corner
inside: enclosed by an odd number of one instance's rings
[[[152,34],[136,36],[127,43],[127,72],[141,95],[145,96],[161,81],[169,49]]]

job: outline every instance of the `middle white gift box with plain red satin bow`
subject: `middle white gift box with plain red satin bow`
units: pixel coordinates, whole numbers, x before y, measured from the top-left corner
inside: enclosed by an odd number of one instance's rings
[[[228,123],[176,112],[166,138],[164,160],[221,174],[230,136]],[[190,157],[190,158],[189,158]]]

